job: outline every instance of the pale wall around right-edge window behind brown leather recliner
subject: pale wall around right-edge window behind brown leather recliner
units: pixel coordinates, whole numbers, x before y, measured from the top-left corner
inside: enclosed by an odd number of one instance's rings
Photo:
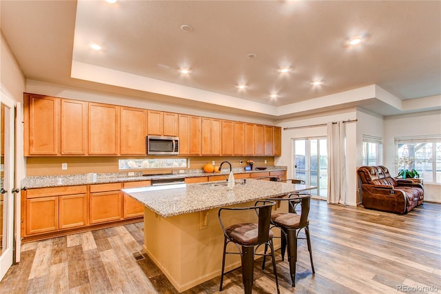
[[[396,175],[395,137],[441,135],[441,110],[384,117],[384,166]],[[424,182],[424,200],[441,202],[441,184]]]

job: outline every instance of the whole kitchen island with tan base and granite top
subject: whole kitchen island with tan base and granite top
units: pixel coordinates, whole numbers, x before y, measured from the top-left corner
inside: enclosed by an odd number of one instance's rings
[[[252,206],[258,199],[285,196],[311,190],[311,186],[236,180],[229,189],[226,182],[176,184],[124,189],[123,193],[145,206],[143,249],[179,292],[220,275],[223,231],[218,208]],[[278,206],[277,210],[287,210]],[[243,214],[226,222],[249,222]],[[240,256],[227,258],[225,271],[240,266]]]

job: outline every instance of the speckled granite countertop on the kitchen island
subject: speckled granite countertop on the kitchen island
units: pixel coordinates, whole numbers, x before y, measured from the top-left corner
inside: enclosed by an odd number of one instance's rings
[[[172,217],[314,188],[317,187],[258,179],[237,179],[232,190],[222,181],[150,186],[122,191],[161,217]]]

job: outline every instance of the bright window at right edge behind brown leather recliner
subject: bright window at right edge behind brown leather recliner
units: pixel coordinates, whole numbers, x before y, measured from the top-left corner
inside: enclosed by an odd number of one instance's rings
[[[441,183],[441,136],[396,137],[395,144],[396,157],[413,159],[408,168],[418,171],[424,183]]]

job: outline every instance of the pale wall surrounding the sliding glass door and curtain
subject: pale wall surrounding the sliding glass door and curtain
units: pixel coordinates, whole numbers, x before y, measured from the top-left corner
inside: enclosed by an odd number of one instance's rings
[[[327,127],[317,126],[312,128],[296,128],[294,130],[283,130],[283,128],[310,126],[316,124],[327,124],[329,121],[346,121],[356,119],[356,108],[348,108],[334,112],[320,113],[319,115],[308,115],[280,121],[278,126],[282,127],[282,156],[274,159],[279,166],[288,166],[287,177],[292,177],[294,169],[292,162],[292,139],[302,139],[307,137],[326,137]],[[346,126],[346,149],[347,149],[347,199],[346,204],[356,206],[356,190],[358,177],[356,175],[357,165],[357,124],[347,123]]]

